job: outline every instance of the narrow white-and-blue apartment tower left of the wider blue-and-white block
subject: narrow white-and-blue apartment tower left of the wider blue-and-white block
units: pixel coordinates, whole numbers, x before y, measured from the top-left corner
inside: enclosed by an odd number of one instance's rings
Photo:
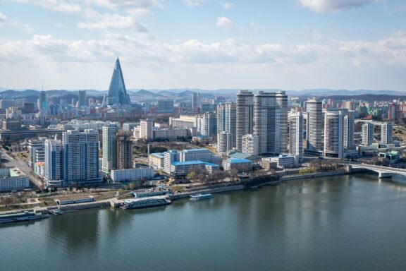
[[[61,186],[63,181],[63,147],[61,140],[47,139],[45,148],[44,180],[47,187]]]

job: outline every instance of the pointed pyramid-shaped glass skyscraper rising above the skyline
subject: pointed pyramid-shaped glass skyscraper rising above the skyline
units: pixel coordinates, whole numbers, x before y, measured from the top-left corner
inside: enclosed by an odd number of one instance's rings
[[[117,58],[116,65],[114,66],[113,76],[111,76],[111,82],[109,92],[104,95],[103,105],[113,104],[130,104],[130,96],[128,96],[125,90],[123,71],[121,71],[120,60]]]

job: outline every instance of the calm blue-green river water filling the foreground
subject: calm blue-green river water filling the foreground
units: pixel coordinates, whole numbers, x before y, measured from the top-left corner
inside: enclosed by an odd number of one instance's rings
[[[0,226],[0,270],[406,270],[406,186],[357,174]]]

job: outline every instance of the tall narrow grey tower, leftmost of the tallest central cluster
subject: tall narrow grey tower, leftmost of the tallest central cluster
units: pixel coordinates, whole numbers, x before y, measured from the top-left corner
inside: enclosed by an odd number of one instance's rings
[[[235,147],[242,150],[242,136],[252,134],[254,120],[254,94],[249,90],[240,90],[236,100]]]

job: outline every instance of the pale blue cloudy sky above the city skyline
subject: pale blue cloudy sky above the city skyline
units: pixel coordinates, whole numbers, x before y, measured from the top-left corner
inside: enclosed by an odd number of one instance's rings
[[[0,88],[406,91],[406,0],[0,0]]]

